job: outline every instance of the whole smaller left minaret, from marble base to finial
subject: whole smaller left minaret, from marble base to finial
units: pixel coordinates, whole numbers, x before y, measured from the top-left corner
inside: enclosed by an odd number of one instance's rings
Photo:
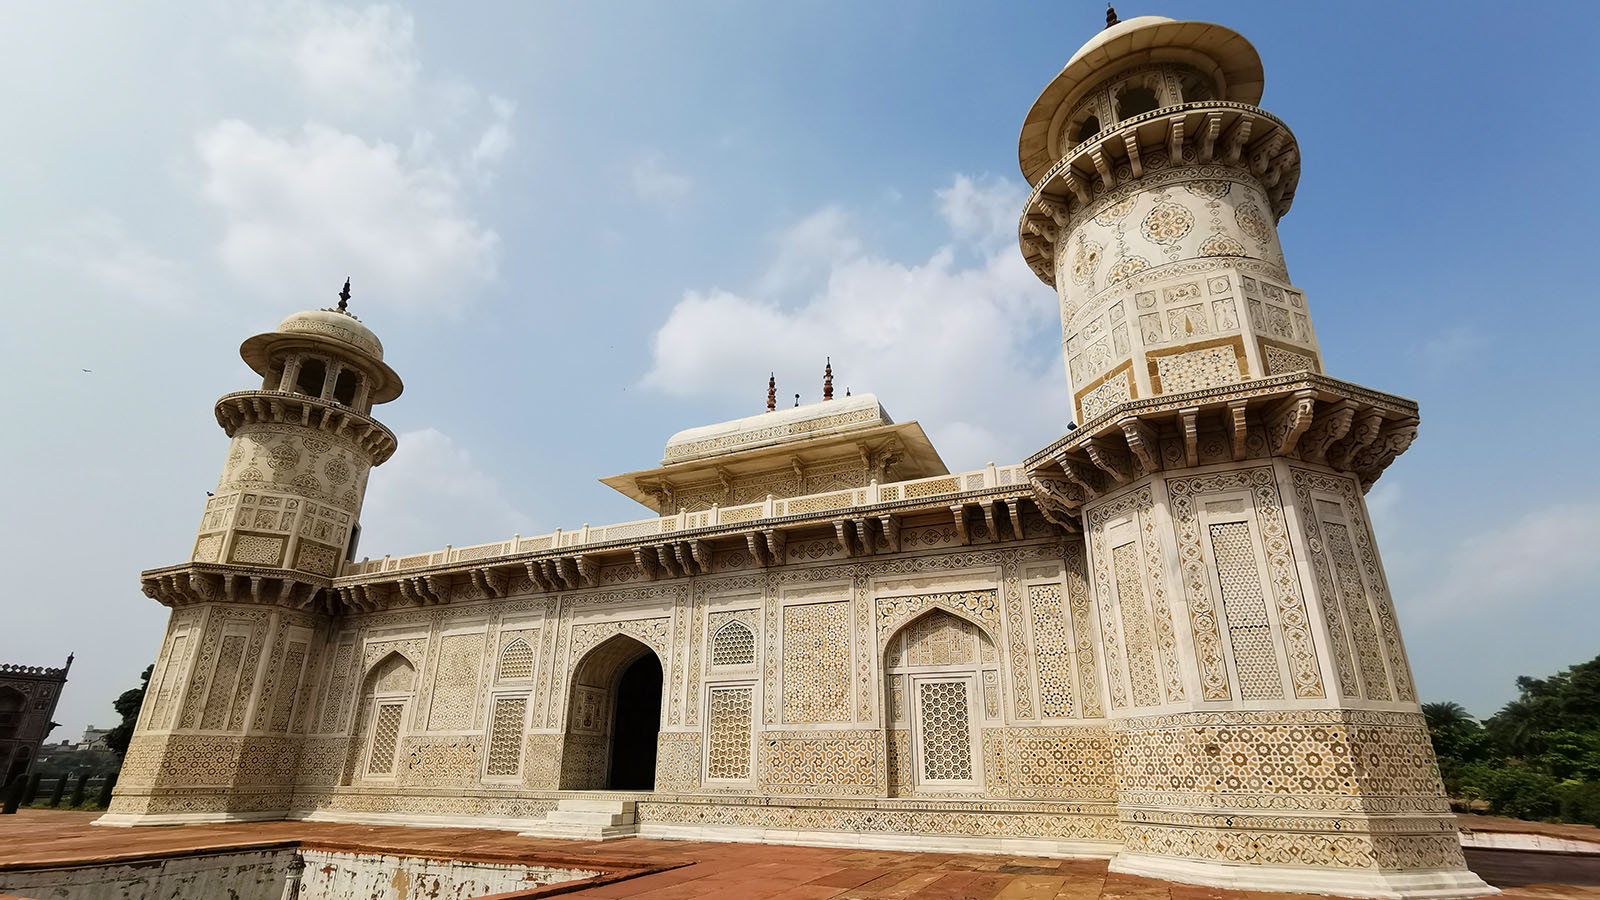
[[[400,378],[347,301],[349,282],[338,307],[240,348],[261,388],[216,404],[232,442],[190,560],[144,577],[173,613],[101,823],[288,814],[330,623],[363,609],[333,578],[355,552],[366,476],[395,452],[371,408]]]

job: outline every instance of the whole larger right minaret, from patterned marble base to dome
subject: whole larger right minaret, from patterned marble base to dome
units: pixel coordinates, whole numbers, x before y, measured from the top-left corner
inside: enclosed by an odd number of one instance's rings
[[[1115,871],[1350,897],[1493,892],[1462,860],[1363,493],[1416,404],[1323,373],[1277,224],[1299,149],[1237,32],[1142,16],[1022,125],[1022,255],[1077,428],[1027,460],[1082,535]]]

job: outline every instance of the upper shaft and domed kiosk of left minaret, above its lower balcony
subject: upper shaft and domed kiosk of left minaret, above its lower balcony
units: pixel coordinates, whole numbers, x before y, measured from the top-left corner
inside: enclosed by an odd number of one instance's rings
[[[296,312],[240,348],[261,389],[216,404],[232,444],[194,562],[331,578],[355,552],[366,476],[395,450],[371,408],[398,397],[402,384],[344,298],[334,309]]]

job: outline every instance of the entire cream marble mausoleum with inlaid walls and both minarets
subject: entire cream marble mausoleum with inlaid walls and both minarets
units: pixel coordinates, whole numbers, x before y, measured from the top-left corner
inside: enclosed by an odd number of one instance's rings
[[[101,822],[1491,892],[1462,862],[1363,500],[1418,410],[1323,373],[1277,237],[1299,151],[1262,83],[1234,30],[1146,16],[1034,104],[1019,240],[1061,299],[1080,426],[1021,463],[952,474],[872,396],[829,383],[778,410],[770,384],[765,413],[605,479],[637,520],[357,562],[368,474],[395,450],[373,407],[400,380],[349,291],[250,338],[261,384],[216,405],[230,445],[190,560],[142,575],[173,613]]]

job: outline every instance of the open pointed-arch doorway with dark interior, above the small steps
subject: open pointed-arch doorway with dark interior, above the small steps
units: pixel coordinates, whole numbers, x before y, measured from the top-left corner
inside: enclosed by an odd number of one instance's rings
[[[562,790],[654,790],[659,732],[661,660],[618,634],[573,669]]]

